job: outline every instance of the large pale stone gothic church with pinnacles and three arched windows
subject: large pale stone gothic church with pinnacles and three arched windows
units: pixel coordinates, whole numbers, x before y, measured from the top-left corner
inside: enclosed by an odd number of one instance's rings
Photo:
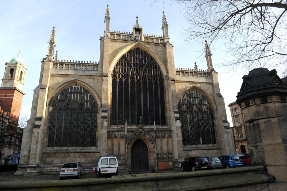
[[[107,7],[99,62],[59,60],[55,28],[34,90],[16,175],[86,170],[115,155],[120,172],[180,169],[188,156],[234,152],[232,129],[212,66],[178,69],[163,13],[163,36],[110,31]]]

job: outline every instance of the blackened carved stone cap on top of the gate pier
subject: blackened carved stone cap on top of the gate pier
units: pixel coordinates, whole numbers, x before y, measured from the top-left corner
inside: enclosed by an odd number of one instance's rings
[[[277,75],[275,69],[269,71],[267,68],[256,68],[242,77],[243,83],[237,93],[237,104],[254,97],[268,95],[287,96],[287,85]]]

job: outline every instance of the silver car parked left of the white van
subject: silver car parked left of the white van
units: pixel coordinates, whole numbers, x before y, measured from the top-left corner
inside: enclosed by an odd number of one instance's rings
[[[83,175],[83,165],[79,162],[69,162],[65,163],[60,169],[60,179],[64,177],[77,177],[80,178],[80,175]]]

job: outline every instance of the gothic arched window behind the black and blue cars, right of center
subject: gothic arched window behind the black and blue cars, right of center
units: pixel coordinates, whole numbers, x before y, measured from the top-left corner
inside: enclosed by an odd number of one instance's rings
[[[183,145],[216,144],[213,111],[203,95],[190,90],[180,99],[178,110]]]

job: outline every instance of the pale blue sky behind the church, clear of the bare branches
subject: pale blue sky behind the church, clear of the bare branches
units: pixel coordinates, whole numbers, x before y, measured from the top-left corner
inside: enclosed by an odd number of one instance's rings
[[[48,40],[55,26],[58,58],[69,60],[99,61],[99,39],[104,34],[104,16],[107,4],[110,9],[110,30],[132,32],[138,16],[143,33],[163,35],[163,11],[168,22],[170,42],[174,46],[175,67],[206,70],[204,57],[204,39],[185,42],[182,36],[185,18],[178,4],[169,5],[151,1],[53,1],[53,0],[0,0],[0,76],[3,77],[5,62],[16,57],[19,48],[21,58],[28,68],[23,91],[21,113],[30,116],[33,90],[40,77],[42,58],[48,52]],[[231,123],[229,103],[236,100],[237,92],[245,73],[227,72],[218,68],[216,63],[225,56],[223,46],[211,45],[212,62],[218,72],[221,94],[224,97],[227,120]],[[272,68],[273,69],[273,68]],[[246,73],[247,74],[247,73]],[[1,78],[2,78],[1,77]]]

